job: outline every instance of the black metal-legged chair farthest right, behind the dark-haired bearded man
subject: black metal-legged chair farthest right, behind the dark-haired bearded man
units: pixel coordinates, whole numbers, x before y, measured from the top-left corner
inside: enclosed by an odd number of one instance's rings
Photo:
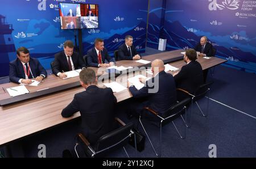
[[[189,98],[191,98],[191,117],[190,117],[190,123],[189,126],[191,126],[191,119],[192,119],[192,112],[193,112],[193,103],[196,103],[197,107],[199,108],[201,114],[204,117],[208,116],[209,113],[209,97],[210,97],[210,88],[209,86],[212,84],[213,82],[208,82],[205,84],[202,84],[201,86],[199,86],[196,90],[196,92],[194,94],[189,93],[186,90],[183,90],[182,88],[177,88],[178,91],[184,92],[184,94],[187,94],[189,96]],[[207,98],[207,113],[204,113],[202,111],[202,109],[200,108],[199,104],[197,103],[198,100],[202,99],[202,98]]]

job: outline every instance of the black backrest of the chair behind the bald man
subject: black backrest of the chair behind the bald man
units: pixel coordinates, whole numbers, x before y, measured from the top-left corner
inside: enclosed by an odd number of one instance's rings
[[[173,117],[175,115],[179,115],[181,111],[184,109],[185,105],[191,102],[191,98],[185,98],[179,103],[175,103],[170,107],[166,113],[164,113],[164,118]]]

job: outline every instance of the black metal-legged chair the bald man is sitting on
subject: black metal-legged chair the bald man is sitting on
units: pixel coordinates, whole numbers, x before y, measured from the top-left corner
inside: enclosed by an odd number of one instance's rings
[[[182,113],[185,113],[185,116],[186,116],[186,112],[187,112],[187,107],[185,105],[189,104],[189,102],[191,102],[191,99],[190,98],[186,98],[184,100],[182,100],[181,102],[177,102],[176,104],[172,105],[167,111],[166,113],[164,113],[164,115],[159,115],[157,112],[155,112],[154,110],[148,108],[148,107],[145,107],[144,109],[146,109],[147,112],[151,113],[152,115],[154,115],[159,121],[159,126],[160,126],[160,153],[159,153],[159,157],[161,156],[161,152],[162,152],[162,125],[166,125],[168,124],[169,122],[172,122],[172,124],[174,125],[177,133],[179,134],[180,138],[181,139],[184,139],[186,137],[186,128],[185,128],[185,136],[181,136],[179,130],[177,129],[175,123],[174,123],[174,120],[177,119],[178,117],[181,117],[182,120],[184,121],[186,127],[187,126],[187,118],[185,117],[185,120],[182,116]],[[185,112],[184,112],[185,111]],[[144,130],[144,132],[146,133],[146,136],[148,138],[148,141],[150,142],[153,150],[155,151],[155,147],[152,145],[152,142],[150,140],[150,138],[148,137],[148,134],[146,132],[146,129],[144,128],[143,124],[142,124],[142,121],[141,121],[141,115],[139,116],[139,122],[141,123],[142,125],[142,128]],[[156,156],[158,156],[158,153],[156,153],[155,151],[155,154]]]

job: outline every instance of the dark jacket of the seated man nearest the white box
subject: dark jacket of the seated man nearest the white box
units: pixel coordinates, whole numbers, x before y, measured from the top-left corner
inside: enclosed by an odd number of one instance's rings
[[[132,55],[132,57],[130,56],[130,53],[128,52],[128,49],[127,49],[125,43],[122,44],[121,46],[119,46],[119,48],[118,48],[118,60],[119,61],[121,61],[121,60],[133,60],[133,57],[136,54],[138,54],[138,53],[137,53],[137,50],[135,49],[135,47],[133,45],[131,46],[131,55]]]

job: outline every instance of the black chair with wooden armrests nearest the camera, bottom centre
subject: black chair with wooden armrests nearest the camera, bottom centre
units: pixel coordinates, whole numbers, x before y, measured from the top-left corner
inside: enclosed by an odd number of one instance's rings
[[[77,134],[76,146],[79,145],[79,143],[82,143],[84,152],[88,157],[97,157],[99,155],[102,155],[102,153],[104,153],[106,150],[112,149],[112,147],[123,145],[123,150],[125,150],[127,157],[129,157],[124,145],[128,143],[129,137],[131,137],[134,134],[132,130],[133,122],[130,122],[129,124],[125,124],[123,121],[121,121],[117,117],[115,117],[115,121],[117,121],[119,125],[121,125],[121,128],[115,129],[112,132],[109,132],[108,134],[105,134],[104,136],[100,137],[94,146],[90,145],[90,142],[81,133]],[[134,139],[134,143],[136,145],[136,139]],[[77,157],[79,157],[76,150],[76,146],[75,146],[76,155]],[[136,146],[135,146],[135,151],[136,151]]]

